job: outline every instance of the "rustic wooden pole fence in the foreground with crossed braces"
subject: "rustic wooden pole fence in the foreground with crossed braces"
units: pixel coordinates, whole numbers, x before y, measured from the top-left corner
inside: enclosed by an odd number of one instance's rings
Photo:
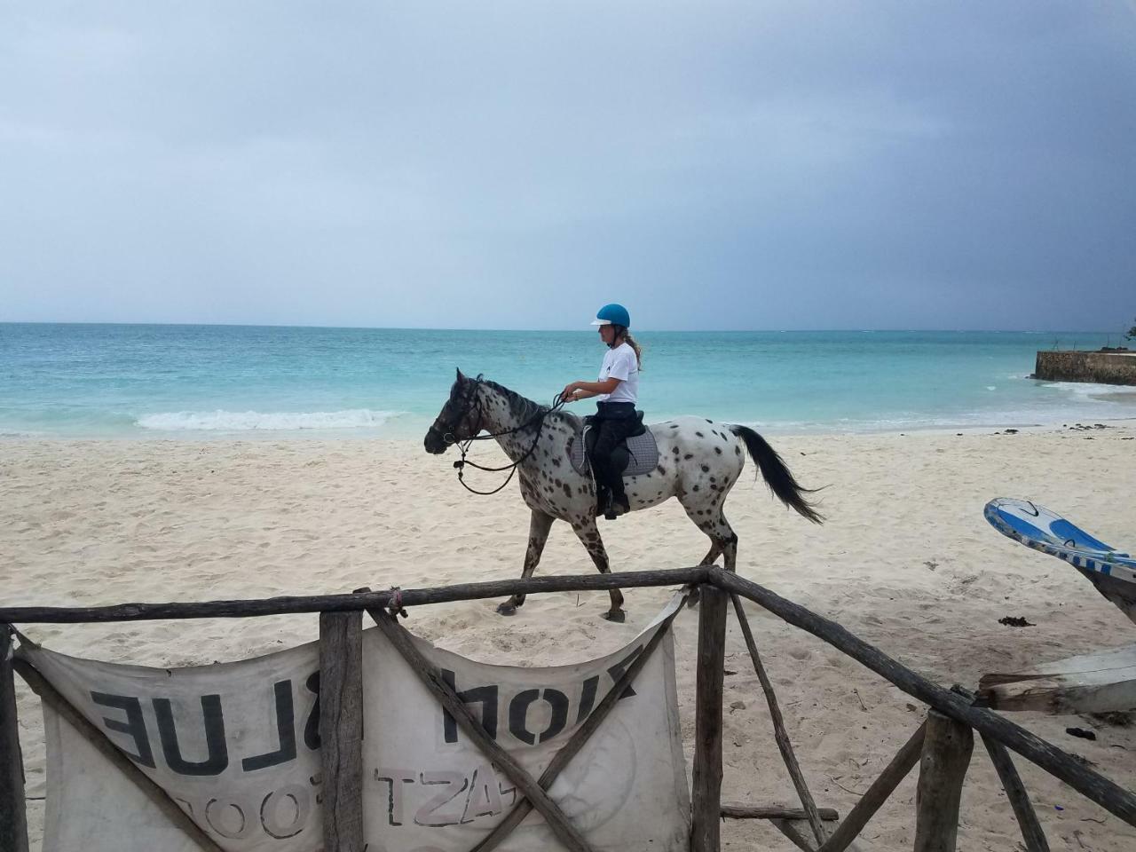
[[[987,709],[960,687],[944,688],[904,667],[879,649],[840,625],[810,612],[757,583],[717,566],[624,574],[552,576],[529,579],[471,583],[440,588],[358,590],[352,594],[272,598],[250,601],[199,603],[125,603],[112,607],[0,608],[0,852],[26,852],[23,762],[17,734],[14,673],[18,673],[42,701],[53,707],[100,752],[194,837],[203,850],[219,847],[148,776],[119,752],[93,725],[59,695],[14,650],[12,625],[33,623],[95,623],[183,618],[244,618],[295,612],[319,613],[320,736],[324,770],[324,843],[327,852],[362,852],[362,613],[375,621],[391,644],[408,661],[426,688],[453,716],[467,736],[523,793],[513,810],[474,852],[488,852],[508,836],[532,810],[537,810],[558,840],[573,852],[591,852],[587,840],[553,801],[548,790],[571,757],[603,721],[624,690],[634,680],[658,645],[669,620],[658,627],[644,651],[595,707],[585,724],[550,762],[538,778],[529,775],[485,732],[481,720],[410,642],[399,625],[404,607],[506,594],[540,594],[642,586],[691,586],[699,595],[699,638],[695,702],[694,770],[692,778],[691,852],[718,852],[720,820],[767,819],[807,852],[841,852],[883,805],[900,782],[919,763],[916,801],[916,852],[949,852],[955,847],[959,800],[977,732],[999,774],[1021,828],[1028,852],[1047,852],[1049,845],[1029,797],[1014,769],[1010,751],[1036,763],[1131,826],[1136,826],[1136,794],[1083,766],[1071,754],[1041,740]],[[742,600],[765,607],[788,624],[827,642],[867,666],[909,695],[929,707],[927,719],[900,749],[879,777],[843,819],[818,808],[801,772],[786,734],[772,685],[766,675],[750,630]],[[741,626],[774,722],[777,746],[793,779],[801,808],[724,803],[722,777],[722,677],[726,621],[729,604]],[[673,618],[673,617],[671,617]],[[826,824],[835,822],[829,832]]]

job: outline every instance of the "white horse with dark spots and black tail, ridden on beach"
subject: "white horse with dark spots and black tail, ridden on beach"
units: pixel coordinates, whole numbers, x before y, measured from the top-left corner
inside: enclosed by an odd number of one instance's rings
[[[523,577],[532,576],[536,569],[552,521],[558,519],[571,525],[602,574],[610,570],[595,524],[595,486],[591,477],[576,473],[569,461],[569,440],[580,425],[580,418],[574,414],[551,410],[495,382],[468,378],[458,370],[450,399],[426,433],[426,451],[441,454],[452,444],[487,431],[516,463],[520,495],[533,512]],[[710,537],[710,551],[702,565],[725,554],[727,570],[735,568],[737,536],[722,513],[722,506],[742,474],[743,446],[786,507],[821,523],[821,516],[804,496],[809,490],[797,484],[777,452],[753,429],[700,417],[679,417],[649,428],[659,448],[659,465],[641,476],[625,477],[632,511],[677,496],[687,517]],[[498,612],[515,615],[524,602],[525,595],[513,595],[498,607]],[[623,621],[623,604],[620,591],[611,590],[611,609],[604,618]]]

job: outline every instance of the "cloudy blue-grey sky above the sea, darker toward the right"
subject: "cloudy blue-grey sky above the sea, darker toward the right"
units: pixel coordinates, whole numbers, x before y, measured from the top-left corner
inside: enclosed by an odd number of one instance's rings
[[[1094,329],[1136,5],[5,2],[0,320]]]

